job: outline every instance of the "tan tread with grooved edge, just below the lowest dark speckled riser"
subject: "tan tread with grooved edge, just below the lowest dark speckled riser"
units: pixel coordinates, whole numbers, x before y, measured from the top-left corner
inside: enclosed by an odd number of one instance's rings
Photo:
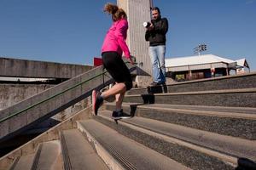
[[[78,127],[111,169],[189,169],[95,120],[80,121]]]

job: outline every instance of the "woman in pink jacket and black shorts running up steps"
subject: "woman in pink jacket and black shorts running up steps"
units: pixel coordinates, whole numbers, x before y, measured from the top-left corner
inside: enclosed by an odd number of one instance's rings
[[[115,95],[116,110],[113,111],[113,119],[127,118],[128,116],[122,110],[122,102],[125,92],[132,88],[132,80],[130,71],[121,57],[123,52],[125,57],[130,59],[131,64],[134,64],[125,42],[128,30],[127,15],[122,8],[112,3],[105,5],[104,12],[112,14],[113,25],[109,28],[102,45],[102,62],[116,83],[113,88],[102,92],[102,94],[96,90],[92,91],[92,109],[97,115],[103,100]]]

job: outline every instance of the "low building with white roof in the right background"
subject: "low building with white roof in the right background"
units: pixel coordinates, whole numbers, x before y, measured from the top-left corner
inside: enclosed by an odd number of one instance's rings
[[[225,59],[213,54],[166,59],[167,76],[177,81],[227,76],[230,71],[242,72],[244,68],[250,71],[246,59]]]

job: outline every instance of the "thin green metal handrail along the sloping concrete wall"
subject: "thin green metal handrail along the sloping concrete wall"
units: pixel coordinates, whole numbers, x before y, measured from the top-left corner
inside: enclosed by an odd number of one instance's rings
[[[126,63],[129,63],[129,62],[125,62],[125,64],[126,64]],[[136,63],[135,63],[135,65],[136,65]],[[79,85],[81,85],[81,84],[83,84],[83,83],[85,83],[85,82],[89,82],[90,80],[92,80],[92,79],[94,79],[94,78],[96,78],[96,77],[100,77],[100,76],[104,75],[106,72],[108,72],[108,71],[103,71],[101,74],[98,74],[98,75],[96,75],[95,77],[91,77],[91,78],[89,78],[89,79],[87,79],[87,80],[84,80],[83,82],[79,82],[78,84],[74,85],[74,86],[71,87],[71,88],[67,88],[67,89],[64,90],[64,91],[62,91],[62,92],[60,92],[60,93],[58,93],[58,94],[54,94],[54,95],[50,96],[50,97],[47,98],[47,99],[43,99],[42,101],[39,101],[39,102],[36,103],[36,104],[30,105],[30,106],[26,107],[25,109],[23,109],[23,110],[21,110],[21,111],[17,111],[17,112],[15,112],[14,114],[11,114],[11,115],[9,115],[9,116],[6,116],[6,117],[4,117],[4,118],[2,118],[2,119],[0,120],[0,123],[1,123],[1,122],[4,122],[4,121],[6,121],[6,120],[8,120],[8,119],[10,119],[10,118],[12,118],[12,117],[14,117],[14,116],[20,115],[20,113],[22,113],[22,112],[24,112],[24,111],[27,111],[27,110],[29,110],[29,109],[31,109],[31,108],[37,106],[37,105],[40,105],[40,104],[42,104],[42,103],[48,101],[49,99],[53,99],[53,98],[55,98],[56,96],[59,96],[59,95],[61,95],[61,94],[64,94],[65,92],[67,92],[67,91],[69,91],[69,90],[71,90],[71,89],[73,89],[73,88],[76,88],[76,87],[78,87]]]

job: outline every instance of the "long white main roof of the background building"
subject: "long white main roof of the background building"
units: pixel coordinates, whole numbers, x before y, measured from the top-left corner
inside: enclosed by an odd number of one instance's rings
[[[175,67],[175,66],[183,66],[183,65],[202,65],[202,64],[209,64],[209,63],[219,63],[219,62],[230,64],[236,61],[231,59],[224,59],[222,57],[218,57],[217,55],[213,55],[213,54],[205,54],[205,55],[166,59],[166,67]]]

